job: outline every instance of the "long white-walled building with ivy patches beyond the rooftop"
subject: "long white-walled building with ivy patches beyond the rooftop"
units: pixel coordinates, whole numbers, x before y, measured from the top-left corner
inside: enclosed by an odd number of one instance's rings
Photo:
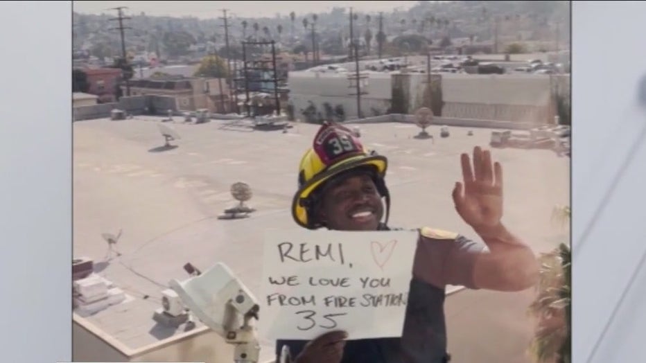
[[[356,94],[350,87],[350,73],[298,71],[290,73],[289,103],[295,118],[307,114],[331,118],[335,114],[353,118],[357,115]],[[423,73],[365,72],[361,108],[364,116],[380,116],[392,112],[392,99],[397,89],[403,92],[408,114],[424,104],[426,81]],[[518,121],[548,123],[553,121],[555,82],[569,83],[569,76],[541,74],[481,75],[446,73],[433,75],[439,90],[430,98],[440,97],[442,114],[448,118],[486,121]],[[565,88],[564,88],[565,87]],[[435,89],[435,88],[434,88]],[[568,89],[565,85],[561,89]],[[441,91],[440,91],[441,90]],[[565,93],[567,94],[567,92]],[[401,107],[394,107],[401,109]],[[395,112],[399,113],[399,112]]]

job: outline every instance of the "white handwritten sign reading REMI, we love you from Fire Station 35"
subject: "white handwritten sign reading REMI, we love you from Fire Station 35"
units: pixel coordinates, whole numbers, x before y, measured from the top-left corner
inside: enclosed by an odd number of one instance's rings
[[[416,231],[270,231],[259,330],[267,339],[400,337]]]

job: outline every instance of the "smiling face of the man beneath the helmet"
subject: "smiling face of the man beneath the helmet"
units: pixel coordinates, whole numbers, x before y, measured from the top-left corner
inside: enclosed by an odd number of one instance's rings
[[[329,229],[375,231],[383,216],[381,196],[368,175],[335,182],[322,197],[319,218]]]

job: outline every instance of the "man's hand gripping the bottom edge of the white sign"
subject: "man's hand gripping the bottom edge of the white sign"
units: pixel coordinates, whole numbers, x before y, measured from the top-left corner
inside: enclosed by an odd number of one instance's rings
[[[311,340],[296,357],[294,363],[339,363],[343,357],[344,331],[333,331]]]

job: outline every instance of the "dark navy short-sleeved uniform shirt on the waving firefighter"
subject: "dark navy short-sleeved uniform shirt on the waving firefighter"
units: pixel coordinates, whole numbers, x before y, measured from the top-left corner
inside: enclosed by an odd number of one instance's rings
[[[457,233],[429,228],[419,232],[402,336],[348,340],[341,363],[448,362],[444,321],[446,285],[477,288],[473,283],[473,266],[485,246]],[[278,340],[277,357],[285,345],[290,355],[296,357],[307,342]]]

